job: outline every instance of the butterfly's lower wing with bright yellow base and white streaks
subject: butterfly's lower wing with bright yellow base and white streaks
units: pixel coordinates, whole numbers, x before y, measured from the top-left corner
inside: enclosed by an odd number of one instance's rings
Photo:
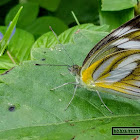
[[[118,52],[82,72],[87,87],[102,87],[140,97],[140,50]]]

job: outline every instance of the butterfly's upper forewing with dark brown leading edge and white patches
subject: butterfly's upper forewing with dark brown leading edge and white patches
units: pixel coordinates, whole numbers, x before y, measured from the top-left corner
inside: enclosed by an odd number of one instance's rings
[[[82,69],[97,60],[122,50],[140,50],[140,16],[133,18],[103,38],[86,56]]]

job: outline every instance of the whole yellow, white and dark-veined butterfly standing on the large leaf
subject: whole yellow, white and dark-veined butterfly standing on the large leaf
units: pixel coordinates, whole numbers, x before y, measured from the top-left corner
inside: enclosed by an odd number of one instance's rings
[[[123,24],[97,43],[82,66],[72,65],[68,69],[76,78],[71,101],[78,85],[97,91],[99,97],[99,91],[107,91],[140,99],[140,16]]]

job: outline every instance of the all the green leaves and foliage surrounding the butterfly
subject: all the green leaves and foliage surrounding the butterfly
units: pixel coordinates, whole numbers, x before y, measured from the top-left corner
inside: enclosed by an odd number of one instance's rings
[[[9,3],[13,6],[5,12]],[[17,13],[21,6],[23,10]],[[70,56],[81,66],[96,43],[134,17],[135,9],[139,10],[136,0],[1,0],[0,8],[6,13],[0,14],[0,23],[5,21],[7,26],[12,21],[8,29],[0,26],[4,35],[0,42],[0,139],[134,138],[112,136],[111,127],[139,126],[139,101],[100,93],[114,113],[110,114],[96,92],[79,87],[64,111],[74,85],[50,89],[75,82],[75,77],[64,66],[35,64],[73,65]]]

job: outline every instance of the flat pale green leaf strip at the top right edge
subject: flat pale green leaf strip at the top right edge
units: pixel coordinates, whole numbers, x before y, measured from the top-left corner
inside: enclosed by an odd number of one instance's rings
[[[102,11],[120,11],[135,7],[137,0],[102,0]]]

